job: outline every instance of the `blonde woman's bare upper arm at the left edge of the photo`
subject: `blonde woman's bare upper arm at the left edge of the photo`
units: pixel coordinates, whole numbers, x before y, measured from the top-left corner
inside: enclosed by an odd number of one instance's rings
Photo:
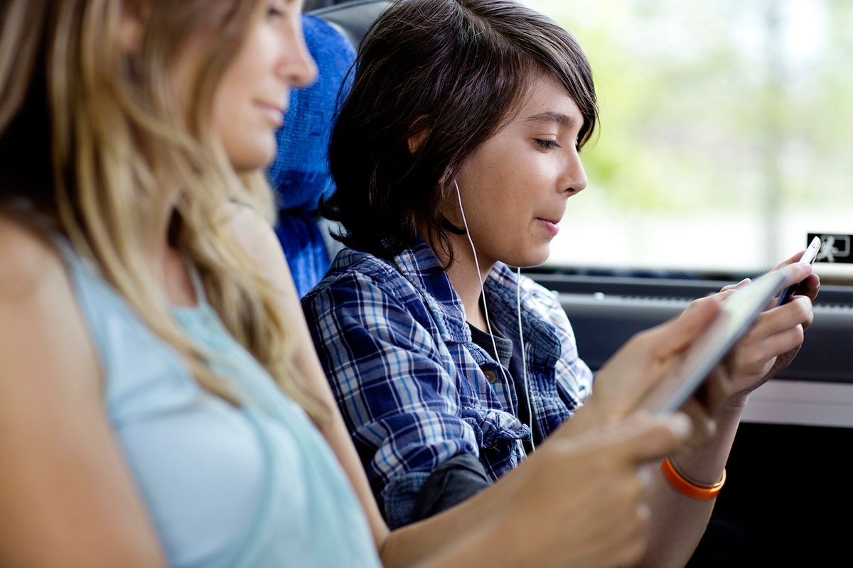
[[[163,566],[65,268],[0,217],[0,565]]]

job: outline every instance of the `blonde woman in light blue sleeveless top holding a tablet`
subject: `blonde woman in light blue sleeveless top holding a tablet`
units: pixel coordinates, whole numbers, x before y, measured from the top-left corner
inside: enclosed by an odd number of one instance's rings
[[[0,565],[639,557],[641,465],[676,450],[683,416],[554,436],[481,496],[388,531],[258,221],[287,91],[315,73],[296,3],[0,16]],[[652,385],[716,313],[637,337],[602,376]],[[583,491],[554,501],[566,483]]]

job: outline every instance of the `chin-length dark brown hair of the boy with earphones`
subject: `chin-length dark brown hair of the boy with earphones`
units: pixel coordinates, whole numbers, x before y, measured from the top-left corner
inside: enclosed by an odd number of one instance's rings
[[[399,0],[368,30],[356,67],[329,146],[337,192],[322,213],[342,224],[335,238],[383,258],[425,227],[421,237],[450,266],[444,174],[513,118],[538,74],[577,104],[578,146],[595,129],[592,71],[577,41],[512,0]]]

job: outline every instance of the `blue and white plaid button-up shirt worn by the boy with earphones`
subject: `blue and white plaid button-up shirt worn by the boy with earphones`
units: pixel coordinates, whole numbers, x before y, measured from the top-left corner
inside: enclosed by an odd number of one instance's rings
[[[592,373],[577,356],[572,326],[554,295],[500,263],[485,282],[493,328],[519,345],[518,285],[539,441],[589,396]],[[472,454],[494,481],[525,458],[531,430],[508,411],[519,405],[515,388],[471,340],[461,300],[427,244],[393,261],[342,250],[303,307],[392,528],[411,522],[421,485],[441,462]]]

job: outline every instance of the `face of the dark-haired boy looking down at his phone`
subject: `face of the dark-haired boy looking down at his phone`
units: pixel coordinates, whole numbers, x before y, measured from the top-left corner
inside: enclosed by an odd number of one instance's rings
[[[519,267],[548,259],[566,199],[586,187],[577,153],[583,116],[548,77],[532,83],[518,114],[456,172],[468,231],[481,262]],[[455,188],[445,206],[461,227]]]

